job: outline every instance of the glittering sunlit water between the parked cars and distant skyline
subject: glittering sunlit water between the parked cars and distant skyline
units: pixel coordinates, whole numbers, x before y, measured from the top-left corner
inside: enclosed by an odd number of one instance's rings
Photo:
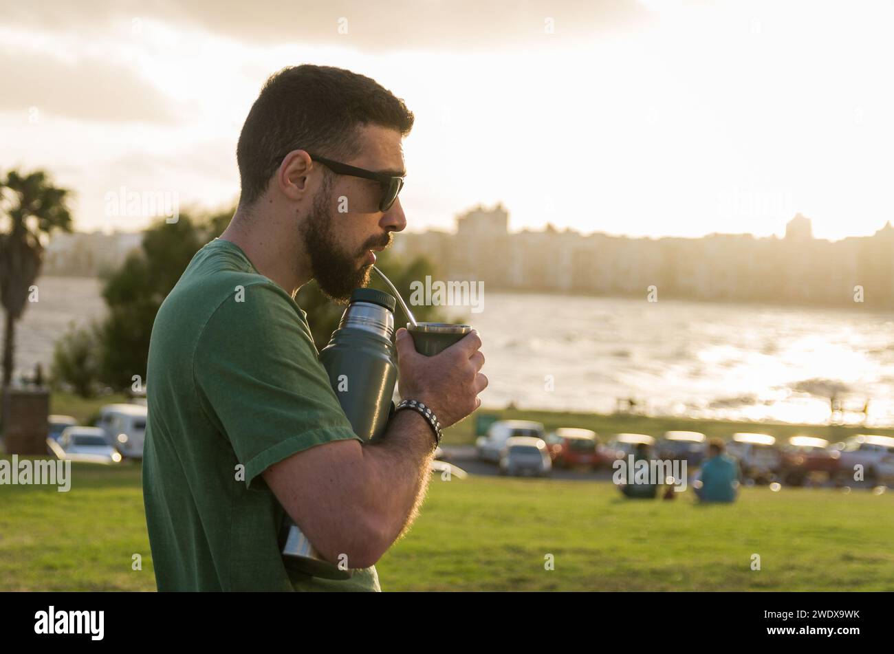
[[[69,323],[101,317],[100,283],[44,277],[19,323],[17,367],[48,372]],[[653,415],[894,424],[894,314],[645,299],[488,293],[451,309],[484,340],[487,407],[611,413],[633,398]]]

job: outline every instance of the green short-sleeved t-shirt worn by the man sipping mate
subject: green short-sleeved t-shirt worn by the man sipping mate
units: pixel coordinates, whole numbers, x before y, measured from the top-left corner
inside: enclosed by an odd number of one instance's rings
[[[149,345],[143,497],[159,591],[380,590],[375,567],[331,581],[280,555],[286,515],[261,473],[358,439],[317,354],[307,314],[240,247],[215,239],[192,258]]]

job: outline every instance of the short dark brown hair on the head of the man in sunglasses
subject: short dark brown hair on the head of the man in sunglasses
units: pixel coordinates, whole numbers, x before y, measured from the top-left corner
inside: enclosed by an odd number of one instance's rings
[[[366,125],[406,136],[413,113],[391,91],[356,72],[305,64],[275,73],[251,105],[236,147],[240,205],[264,195],[292,150],[341,161],[356,156],[358,128]]]

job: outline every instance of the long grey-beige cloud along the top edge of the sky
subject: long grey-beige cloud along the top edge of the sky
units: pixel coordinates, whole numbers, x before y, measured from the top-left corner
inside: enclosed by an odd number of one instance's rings
[[[636,28],[653,15],[636,0],[164,0],[151,8],[131,0],[92,0],[89,10],[85,4],[10,4],[4,20],[42,29],[95,29],[97,21],[155,19],[256,45],[328,44],[388,52],[543,45],[547,19],[554,26],[549,38],[561,43]]]

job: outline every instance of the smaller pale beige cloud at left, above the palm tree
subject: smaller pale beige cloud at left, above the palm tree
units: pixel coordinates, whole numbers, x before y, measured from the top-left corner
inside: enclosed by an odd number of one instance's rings
[[[0,110],[37,107],[91,122],[178,122],[163,93],[128,68],[98,57],[67,63],[53,55],[0,50]]]

